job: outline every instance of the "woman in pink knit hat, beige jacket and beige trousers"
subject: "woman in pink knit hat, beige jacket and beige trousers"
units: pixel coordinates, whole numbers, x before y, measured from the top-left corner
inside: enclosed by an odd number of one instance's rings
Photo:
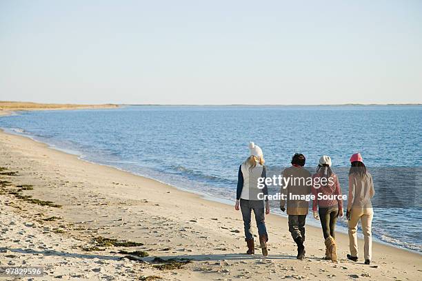
[[[356,153],[350,157],[349,171],[349,197],[346,217],[349,220],[349,246],[348,259],[358,260],[357,248],[357,225],[362,223],[363,237],[365,240],[364,257],[365,264],[370,264],[372,256],[372,233],[371,225],[374,216],[371,199],[375,195],[372,175],[366,170],[361,154]]]

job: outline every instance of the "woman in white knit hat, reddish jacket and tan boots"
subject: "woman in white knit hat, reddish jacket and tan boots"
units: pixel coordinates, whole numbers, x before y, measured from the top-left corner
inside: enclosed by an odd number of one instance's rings
[[[330,156],[321,156],[312,176],[312,194],[315,196],[312,211],[321,219],[325,240],[325,260],[337,261],[335,227],[337,217],[343,217],[343,200],[339,178],[331,169]]]

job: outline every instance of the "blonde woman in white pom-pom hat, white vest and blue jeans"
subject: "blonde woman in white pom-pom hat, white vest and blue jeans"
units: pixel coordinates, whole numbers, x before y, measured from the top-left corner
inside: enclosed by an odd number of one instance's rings
[[[259,188],[258,185],[258,179],[266,177],[264,166],[265,160],[263,158],[262,150],[258,145],[251,142],[249,143],[249,149],[250,156],[239,167],[237,197],[234,208],[236,210],[241,209],[242,212],[243,225],[245,227],[245,241],[248,244],[248,251],[246,253],[249,255],[255,253],[254,237],[252,236],[251,231],[251,214],[253,210],[255,220],[257,221],[262,253],[263,256],[267,256],[268,233],[265,227],[265,214],[270,214],[268,188],[266,185],[263,188]],[[265,204],[263,198],[265,198]]]

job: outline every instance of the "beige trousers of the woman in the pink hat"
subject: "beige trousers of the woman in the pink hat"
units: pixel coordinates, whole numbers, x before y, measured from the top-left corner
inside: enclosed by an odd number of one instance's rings
[[[349,220],[349,247],[350,254],[354,257],[358,256],[357,247],[357,226],[359,220],[362,222],[363,238],[365,240],[364,256],[365,260],[371,260],[372,257],[372,218],[374,210],[372,208],[352,208]]]

